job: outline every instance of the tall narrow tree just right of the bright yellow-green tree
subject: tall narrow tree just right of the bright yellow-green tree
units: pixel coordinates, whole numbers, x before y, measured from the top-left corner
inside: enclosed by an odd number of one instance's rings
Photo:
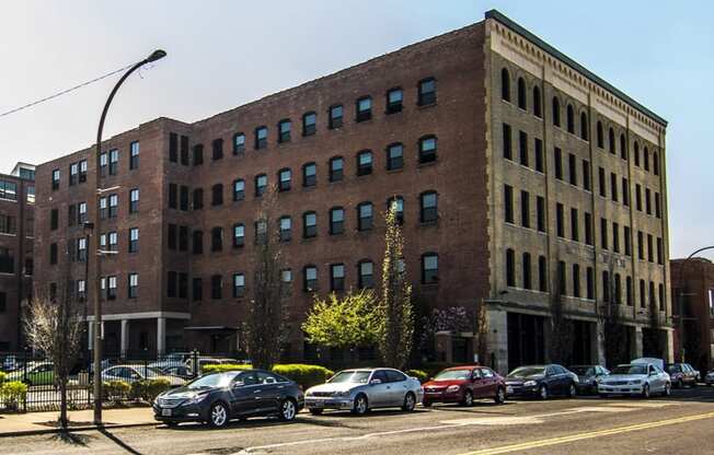
[[[382,295],[379,303],[379,352],[390,366],[403,369],[412,354],[414,315],[412,285],[403,260],[404,236],[396,220],[396,207],[384,214],[384,260],[382,262]]]

